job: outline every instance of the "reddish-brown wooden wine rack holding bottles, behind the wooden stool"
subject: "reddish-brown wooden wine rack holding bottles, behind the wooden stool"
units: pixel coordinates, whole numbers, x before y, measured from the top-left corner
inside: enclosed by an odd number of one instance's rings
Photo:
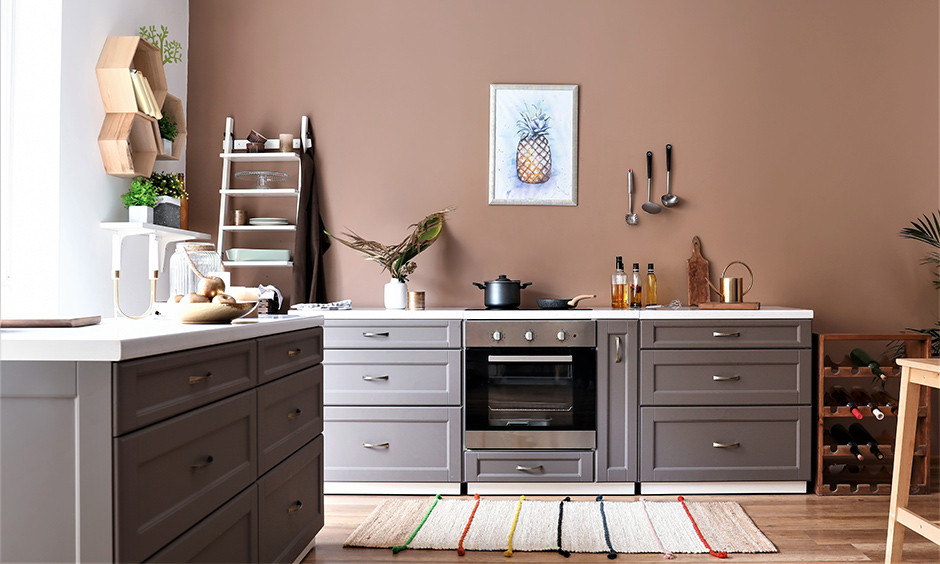
[[[930,356],[930,335],[921,333],[901,333],[896,335],[867,334],[819,334],[814,335],[816,350],[815,371],[817,380],[818,425],[816,431],[816,475],[815,491],[817,495],[888,495],[891,493],[891,471],[894,464],[894,438],[897,430],[897,414],[886,405],[878,409],[885,414],[882,421],[876,420],[872,409],[858,406],[862,415],[857,420],[852,411],[845,406],[826,405],[826,392],[833,385],[846,388],[860,386],[869,388],[872,382],[880,378],[872,369],[856,366],[848,356],[835,362],[830,358],[834,349],[875,345],[884,346],[889,342],[904,345],[904,355],[909,358]],[[887,376],[885,390],[894,398],[898,397],[901,381],[901,368],[885,358],[878,360],[881,371]],[[858,445],[864,460],[850,451],[847,445],[838,444],[830,435],[829,429],[836,423],[848,426],[858,421],[878,442],[878,450],[884,458],[878,460],[868,445]],[[914,440],[914,461],[911,468],[911,493],[930,492],[930,394],[924,389],[920,395],[917,409],[917,426]]]

